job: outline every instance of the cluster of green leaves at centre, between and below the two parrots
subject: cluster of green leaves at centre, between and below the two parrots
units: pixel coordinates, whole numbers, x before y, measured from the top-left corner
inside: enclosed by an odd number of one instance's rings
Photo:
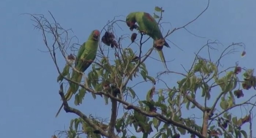
[[[133,77],[138,77],[140,74],[145,81],[151,81],[155,84],[155,79],[148,76],[148,71],[144,63],[139,63],[139,59],[135,58],[135,54],[131,48],[125,48],[121,54],[116,53],[116,60],[111,65],[108,58],[103,57],[101,62],[92,65],[92,70],[87,75],[87,84],[89,87],[94,88],[95,91],[104,91],[103,83],[108,81],[121,89],[123,93],[129,92],[133,98],[135,98],[135,92],[132,88],[122,85],[125,78],[133,80]],[[136,59],[136,60],[134,60]],[[138,66],[138,67],[136,67]],[[82,104],[82,99],[86,93],[84,88],[81,88],[75,95],[75,104]],[[96,98],[94,93],[91,93],[93,98]],[[105,97],[105,102],[108,104],[108,97]]]

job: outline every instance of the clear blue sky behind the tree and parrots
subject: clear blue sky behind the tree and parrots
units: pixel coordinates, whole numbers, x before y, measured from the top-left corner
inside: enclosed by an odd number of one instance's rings
[[[147,0],[146,3],[139,0],[94,0],[90,2],[86,0],[1,0],[1,137],[49,138],[55,130],[68,128],[69,120],[75,117],[72,114],[65,114],[64,111],[61,111],[58,118],[54,117],[61,105],[58,94],[59,84],[56,82],[58,74],[49,54],[38,50],[46,50],[41,32],[33,30],[29,16],[20,14],[45,14],[49,18],[48,11],[51,11],[57,22],[64,28],[72,28],[79,42],[82,43],[87,39],[91,30],[101,29],[116,15],[126,16],[132,11],[145,11],[153,14],[155,6],[162,6],[165,9],[163,21],[170,22],[172,27],[180,27],[194,19],[206,5],[207,0],[162,0],[158,2]],[[226,58],[223,63],[227,67],[239,61],[242,67],[256,68],[255,62],[252,62],[256,51],[255,5],[256,1],[253,0],[211,0],[208,10],[187,27],[194,34],[206,38],[195,37],[185,30],[177,31],[168,37],[184,50],[181,51],[170,44],[172,48],[166,49],[164,53],[167,60],[175,58],[175,61],[168,63],[169,68],[179,71],[182,69],[180,64],[189,68],[193,53],[198,51],[207,39],[218,39],[224,46],[232,42],[244,42],[246,56],[241,58],[241,53],[236,53]],[[124,28],[124,32],[131,34],[128,28]],[[222,46],[219,48],[223,49]],[[158,58],[156,53],[153,54],[155,58]],[[147,66],[151,68],[150,73],[162,68],[160,62],[147,63]],[[60,61],[60,66],[63,65],[64,61]],[[174,85],[177,79],[166,76],[166,80]],[[143,93],[148,91],[142,91],[139,88],[136,90]],[[250,96],[248,93],[255,93],[255,91],[245,92],[242,100]],[[105,106],[103,100],[98,98],[98,103],[96,103],[91,96],[85,99],[90,106],[80,106],[79,109],[87,114],[97,114],[101,117],[109,115],[110,105]],[[241,112],[239,108],[237,109],[234,111],[235,114]],[[255,131],[253,133],[256,136]]]

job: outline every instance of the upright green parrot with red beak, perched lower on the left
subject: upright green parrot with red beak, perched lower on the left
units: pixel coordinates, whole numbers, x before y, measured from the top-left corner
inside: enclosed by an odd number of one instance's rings
[[[84,42],[82,46],[80,46],[80,49],[78,50],[78,54],[75,60],[75,68],[80,72],[84,72],[94,61],[97,54],[97,49],[98,49],[99,34],[100,34],[99,30],[93,30],[88,40]],[[58,77],[57,81],[60,80],[60,76]],[[73,70],[71,80],[77,83],[80,83],[82,80],[82,77],[83,77],[82,74]],[[68,91],[65,94],[65,98],[67,99],[67,101],[71,99],[72,95],[76,91],[78,91],[78,88],[79,88],[79,85],[76,85],[72,82],[69,83]],[[58,116],[62,107],[63,107],[63,103],[55,117]]]

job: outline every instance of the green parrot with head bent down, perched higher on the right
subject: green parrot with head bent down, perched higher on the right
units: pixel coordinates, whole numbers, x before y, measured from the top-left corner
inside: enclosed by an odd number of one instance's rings
[[[138,23],[137,26],[135,23]],[[154,39],[154,47],[157,49],[160,58],[166,66],[165,57],[163,55],[162,48],[163,46],[170,47],[169,44],[163,39],[162,32],[158,27],[157,21],[146,12],[132,12],[126,17],[127,26],[130,27],[130,30],[138,29],[140,32],[147,34]]]

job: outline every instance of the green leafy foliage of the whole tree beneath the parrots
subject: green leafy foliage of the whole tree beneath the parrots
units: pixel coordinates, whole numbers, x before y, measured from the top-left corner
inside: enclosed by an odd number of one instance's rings
[[[163,12],[162,8],[155,7],[154,18],[159,19],[160,22]],[[37,19],[37,17],[33,17]],[[84,76],[84,83],[80,84],[80,89],[75,94],[74,100],[76,106],[83,104],[84,96],[89,96],[88,93],[91,93],[94,99],[101,98],[105,100],[105,104],[111,103],[112,115],[109,124],[91,115],[87,117],[86,114],[83,114],[81,117],[80,114],[73,112],[80,117],[71,120],[66,133],[68,138],[80,138],[81,134],[86,134],[87,138],[100,138],[102,135],[135,138],[135,134],[131,133],[131,128],[136,133],[142,134],[143,138],[152,134],[154,138],[180,138],[186,134],[190,134],[191,138],[205,137],[206,135],[208,138],[222,136],[241,138],[242,135],[245,138],[248,137],[248,131],[243,130],[242,127],[247,122],[251,123],[251,111],[255,105],[250,103],[250,100],[256,95],[243,103],[237,104],[237,100],[247,94],[244,93],[245,91],[256,89],[254,70],[242,68],[237,63],[227,69],[220,66],[220,61],[225,55],[234,52],[232,47],[244,48],[242,43],[232,43],[227,46],[221,56],[214,61],[210,54],[209,58],[200,57],[200,52],[203,49],[213,49],[211,45],[217,44],[215,41],[207,42],[195,55],[191,68],[186,69],[185,73],[165,70],[152,75],[148,70],[152,65],[146,65],[145,61],[149,60],[148,57],[155,49],[151,48],[146,54],[142,54],[142,46],[148,39],[143,42],[145,35],[136,34],[135,36],[134,33],[131,40],[134,45],[139,46],[139,52],[138,49],[129,46],[123,48],[122,42],[125,39],[122,39],[122,36],[114,37],[113,26],[117,22],[118,20],[112,20],[105,26],[106,28],[102,29],[107,31],[102,37],[103,44],[99,44],[97,61],[94,61],[91,65],[92,70]],[[37,23],[40,24],[41,20],[37,20]],[[44,32],[46,28],[40,29]],[[57,29],[60,28],[56,27],[56,30],[53,29],[49,32],[55,37]],[[178,29],[168,31],[166,36]],[[65,57],[66,45],[59,39],[55,39],[55,41]],[[47,43],[46,46],[49,47]],[[105,47],[108,49],[107,53],[103,50]],[[110,52],[111,50],[114,52]],[[49,50],[49,52],[52,51]],[[244,56],[244,49],[242,53]],[[51,55],[57,66],[54,51]],[[67,58],[65,59],[67,60]],[[71,69],[69,68],[72,64],[73,61],[67,61],[63,78],[58,78],[58,80],[64,79],[70,82],[68,74],[70,74]],[[166,83],[166,88],[159,88],[158,82],[161,80],[161,75],[167,73],[181,75],[183,78],[178,80],[177,84]],[[152,85],[152,87],[143,87],[138,83],[143,88],[141,91],[145,93],[143,99],[138,97],[139,91],[132,86],[131,82],[135,80],[142,80],[142,82]],[[116,116],[116,112],[119,111],[116,102],[122,104],[124,108],[120,118]],[[251,110],[244,117],[239,118],[231,114],[231,109],[244,105],[252,105]],[[182,107],[185,107],[187,111],[182,110]],[[64,109],[71,112],[67,106]],[[186,115],[188,111],[201,112],[203,125],[197,122],[196,118],[188,117]],[[111,132],[112,127],[114,132]]]

